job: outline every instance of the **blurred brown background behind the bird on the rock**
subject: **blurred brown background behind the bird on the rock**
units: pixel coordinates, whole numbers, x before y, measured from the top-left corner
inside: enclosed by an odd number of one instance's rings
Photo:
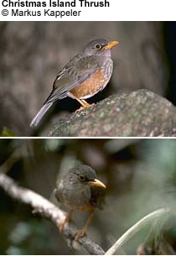
[[[99,37],[118,40],[120,45],[112,50],[111,83],[89,102],[147,88],[175,104],[175,22],[1,22],[1,130],[6,127],[16,136],[32,135],[28,124],[48,97],[60,69]],[[45,120],[54,123],[78,107],[66,98],[54,105]]]

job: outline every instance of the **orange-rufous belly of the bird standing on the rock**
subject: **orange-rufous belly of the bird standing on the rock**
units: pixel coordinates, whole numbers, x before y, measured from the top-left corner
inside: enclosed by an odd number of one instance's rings
[[[109,81],[109,77],[105,76],[101,71],[96,71],[94,75],[86,79],[79,86],[75,86],[68,94],[69,97],[86,99],[94,96],[101,91]],[[71,95],[72,94],[72,95]]]

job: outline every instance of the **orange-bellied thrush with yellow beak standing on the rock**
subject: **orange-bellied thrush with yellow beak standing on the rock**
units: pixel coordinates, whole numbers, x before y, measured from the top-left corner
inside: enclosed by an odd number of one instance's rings
[[[85,102],[85,99],[103,90],[111,79],[113,71],[111,48],[117,44],[118,41],[93,39],[80,54],[75,55],[56,76],[49,97],[33,118],[30,127],[38,126],[49,107],[65,97],[80,102],[79,110],[90,107],[91,104]]]

